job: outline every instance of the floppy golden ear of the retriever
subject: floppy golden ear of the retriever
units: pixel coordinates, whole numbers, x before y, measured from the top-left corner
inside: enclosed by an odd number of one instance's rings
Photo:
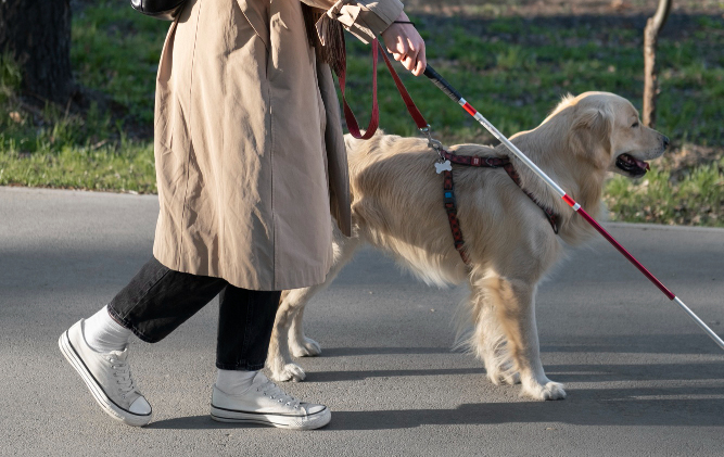
[[[569,143],[576,154],[599,158],[604,163],[605,157],[599,157],[596,152],[602,149],[610,154],[612,130],[613,112],[608,106],[586,107],[573,119]]]

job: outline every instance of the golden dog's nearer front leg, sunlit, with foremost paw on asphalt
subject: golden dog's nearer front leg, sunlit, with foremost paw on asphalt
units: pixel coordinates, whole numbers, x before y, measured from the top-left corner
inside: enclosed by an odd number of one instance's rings
[[[536,399],[563,399],[563,384],[546,377],[541,363],[535,322],[536,287],[526,281],[500,278],[495,289],[499,296],[497,317],[506,333],[508,350],[520,373],[522,394]]]

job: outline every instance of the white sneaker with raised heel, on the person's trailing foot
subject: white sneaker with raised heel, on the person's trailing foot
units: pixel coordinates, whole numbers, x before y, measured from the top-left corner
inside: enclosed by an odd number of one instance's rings
[[[80,319],[63,332],[58,340],[61,352],[109,416],[128,426],[148,424],[153,411],[134,384],[128,348],[110,353],[93,351],[82,334],[84,321]]]

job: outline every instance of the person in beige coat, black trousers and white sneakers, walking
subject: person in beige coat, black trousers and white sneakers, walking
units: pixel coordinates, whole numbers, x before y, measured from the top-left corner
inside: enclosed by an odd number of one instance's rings
[[[321,283],[330,211],[350,236],[346,153],[330,65],[343,30],[382,35],[415,75],[424,41],[398,0],[188,0],[156,77],[160,214],[153,256],[59,345],[103,410],[145,426],[128,340],[155,343],[219,296],[212,418],[326,426],[325,405],[282,391],[264,367],[282,290]]]

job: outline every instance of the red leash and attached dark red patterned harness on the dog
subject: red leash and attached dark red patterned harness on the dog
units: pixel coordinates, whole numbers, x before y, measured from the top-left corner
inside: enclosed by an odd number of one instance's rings
[[[379,41],[376,39],[372,42],[372,116],[370,118],[370,124],[369,127],[367,128],[367,131],[365,131],[365,135],[363,136],[361,132],[359,131],[359,127],[357,126],[357,119],[355,119],[354,113],[347,105],[347,101],[345,100],[344,97],[344,89],[345,89],[345,72],[342,71],[341,74],[338,74],[338,78],[340,80],[340,88],[342,91],[342,101],[344,104],[344,116],[347,123],[347,128],[350,129],[350,132],[354,138],[357,139],[369,139],[374,135],[374,131],[377,130],[378,124],[379,124],[379,107],[377,103],[377,55],[378,55],[378,47],[382,50],[381,54],[384,58],[384,62],[388,65],[388,68],[390,69],[390,74],[392,75],[392,78],[395,80],[395,85],[397,86],[397,90],[399,91],[399,96],[402,97],[403,101],[405,102],[405,105],[407,106],[407,111],[409,112],[410,116],[415,120],[415,124],[417,124],[417,127],[420,129],[422,134],[424,134],[428,137],[429,145],[434,149],[437,154],[440,155],[440,163],[435,164],[435,167],[437,168],[437,174],[443,174],[443,201],[445,205],[445,211],[447,212],[447,220],[450,224],[450,230],[453,232],[453,240],[455,242],[455,249],[460,253],[460,257],[462,258],[462,262],[465,262],[466,265],[470,266],[470,259],[468,258],[468,254],[465,251],[465,239],[462,237],[462,230],[460,229],[460,221],[458,220],[457,217],[457,201],[455,199],[455,182],[453,181],[453,168],[450,164],[456,164],[456,165],[467,165],[467,166],[475,166],[475,167],[486,167],[486,168],[503,168],[506,170],[510,179],[513,180],[516,185],[525,193],[532,201],[535,203],[541,210],[543,210],[543,213],[545,214],[546,218],[548,219],[548,223],[550,224],[550,227],[552,227],[554,232],[558,234],[558,219],[559,216],[549,207],[544,206],[541,204],[541,202],[537,201],[537,199],[529,191],[523,189],[520,182],[520,176],[518,175],[518,172],[516,172],[516,168],[513,167],[512,163],[508,157],[480,157],[477,155],[456,155],[453,153],[449,153],[445,151],[443,148],[442,143],[437,140],[432,139],[430,136],[430,125],[425,122],[424,117],[422,116],[422,113],[420,113],[420,110],[415,105],[415,102],[412,101],[412,98],[409,96],[407,92],[407,89],[405,88],[405,85],[403,85],[403,81],[399,79],[399,76],[397,76],[397,72],[392,66],[392,63],[390,62],[390,59],[388,58],[386,52],[384,52],[384,49],[382,49],[382,45],[379,43]],[[346,63],[342,65],[342,68],[346,67]]]

